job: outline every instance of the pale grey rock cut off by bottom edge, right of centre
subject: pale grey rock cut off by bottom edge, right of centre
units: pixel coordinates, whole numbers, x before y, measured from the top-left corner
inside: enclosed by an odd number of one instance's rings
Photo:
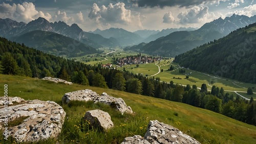
[[[157,120],[150,121],[147,132],[142,138],[139,135],[124,138],[122,144],[126,143],[193,143],[200,144],[195,138],[190,137],[177,128],[160,123]]]

